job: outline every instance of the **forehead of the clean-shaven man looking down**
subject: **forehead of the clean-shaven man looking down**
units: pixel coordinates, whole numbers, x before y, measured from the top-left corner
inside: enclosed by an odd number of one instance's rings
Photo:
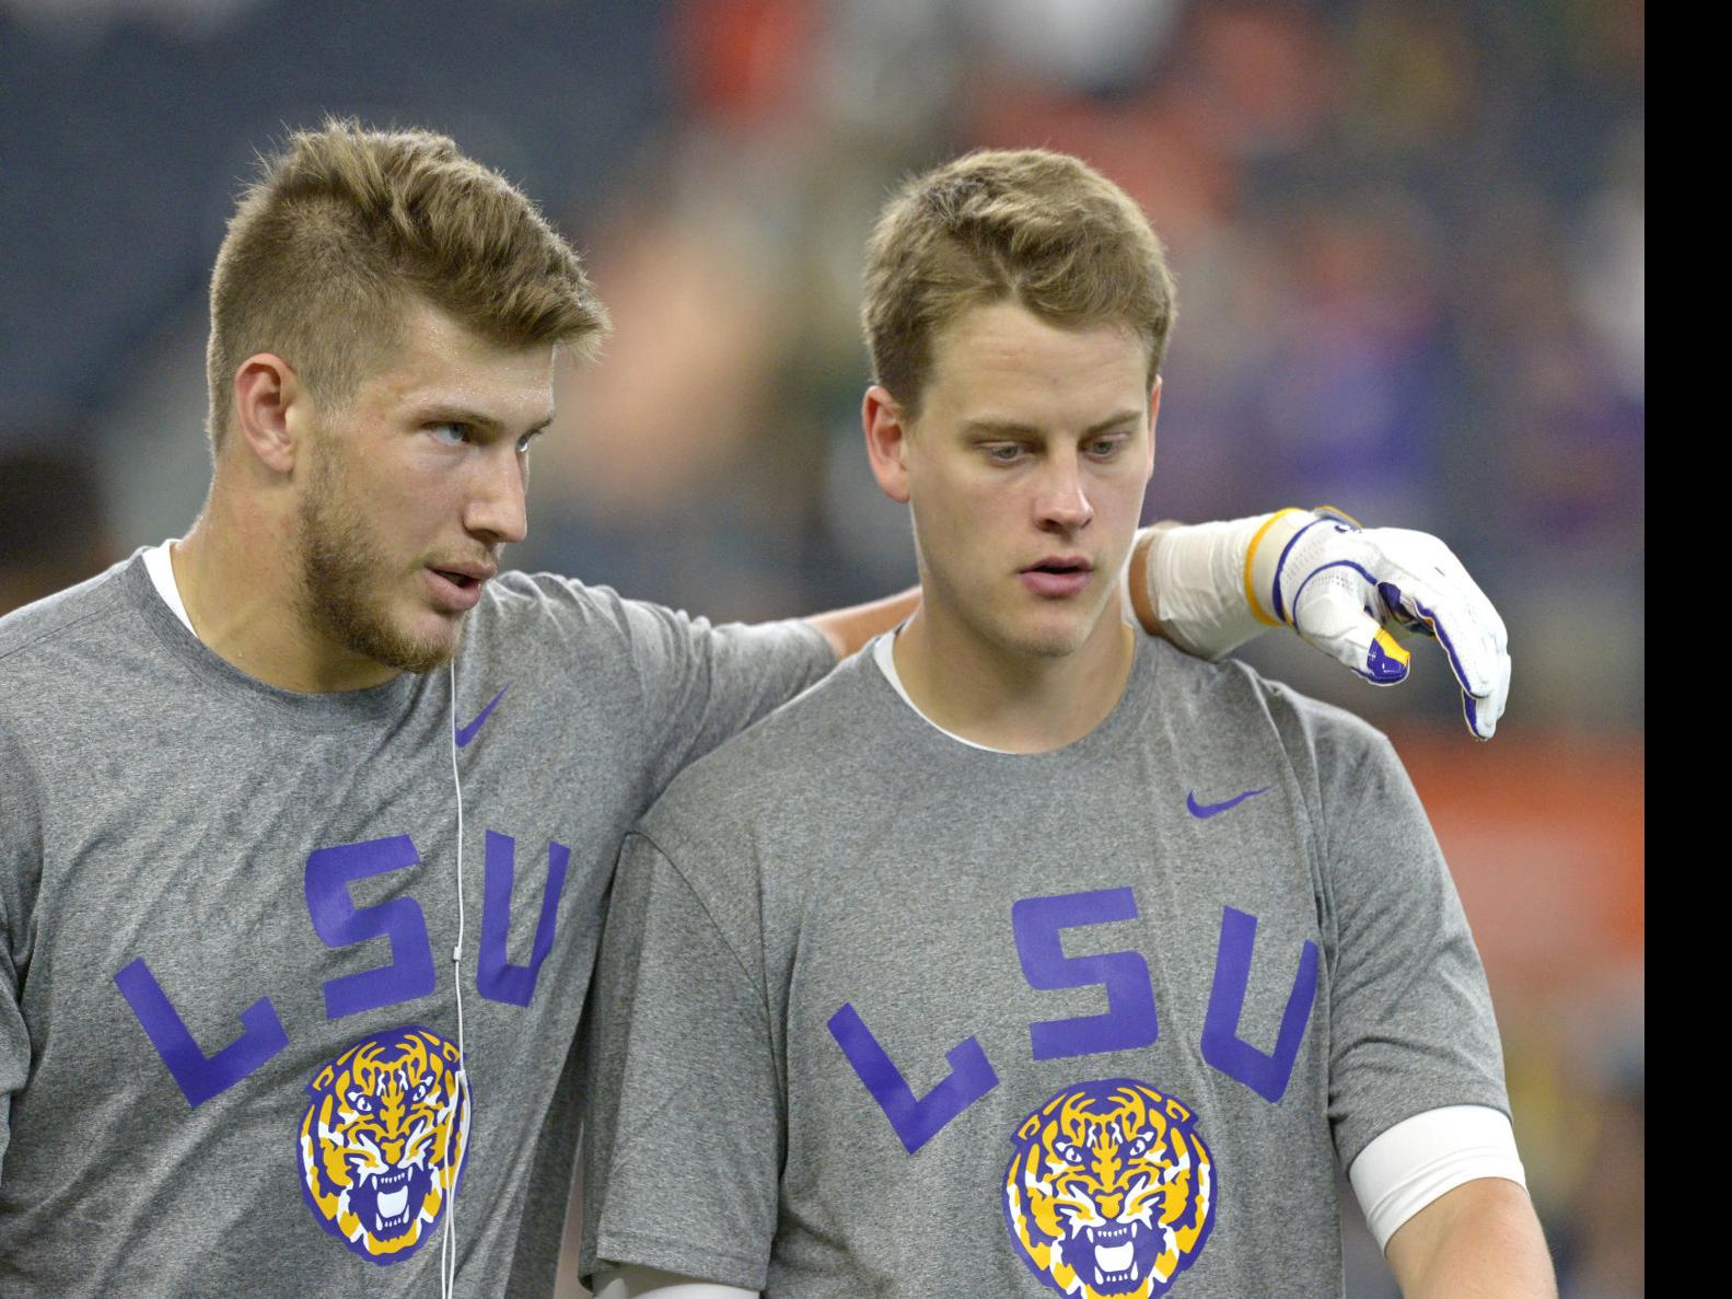
[[[939,331],[923,407],[946,419],[1086,428],[1147,400],[1148,353],[1129,329],[1060,326],[998,301]]]

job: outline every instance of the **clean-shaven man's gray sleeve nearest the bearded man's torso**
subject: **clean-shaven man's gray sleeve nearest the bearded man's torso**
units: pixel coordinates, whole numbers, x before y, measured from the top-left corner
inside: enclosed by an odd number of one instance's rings
[[[783,1095],[759,980],[641,833],[620,852],[589,1025],[580,1271],[762,1290]]]

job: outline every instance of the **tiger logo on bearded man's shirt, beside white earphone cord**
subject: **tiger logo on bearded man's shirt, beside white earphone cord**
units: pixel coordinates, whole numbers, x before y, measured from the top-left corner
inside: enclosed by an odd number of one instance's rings
[[[371,1263],[433,1235],[469,1150],[469,1079],[454,1043],[419,1025],[378,1032],[307,1086],[301,1195]]]

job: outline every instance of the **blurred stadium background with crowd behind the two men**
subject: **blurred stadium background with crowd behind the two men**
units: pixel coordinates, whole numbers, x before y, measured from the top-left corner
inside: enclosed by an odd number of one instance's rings
[[[857,430],[887,187],[1044,144],[1129,189],[1179,277],[1147,516],[1431,528],[1509,622],[1484,746],[1432,653],[1247,656],[1394,738],[1564,1294],[1642,1294],[1642,0],[0,0],[0,611],[192,521],[223,220],[326,113],[454,135],[613,310],[513,561],[714,617],[913,580]]]

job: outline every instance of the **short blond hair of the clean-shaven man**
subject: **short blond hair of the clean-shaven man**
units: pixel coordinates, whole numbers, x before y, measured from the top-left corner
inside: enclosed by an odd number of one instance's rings
[[[861,322],[878,383],[918,414],[932,339],[970,307],[1017,301],[1055,324],[1141,338],[1154,385],[1173,272],[1141,208],[1088,163],[980,149],[908,180],[866,244]]]

